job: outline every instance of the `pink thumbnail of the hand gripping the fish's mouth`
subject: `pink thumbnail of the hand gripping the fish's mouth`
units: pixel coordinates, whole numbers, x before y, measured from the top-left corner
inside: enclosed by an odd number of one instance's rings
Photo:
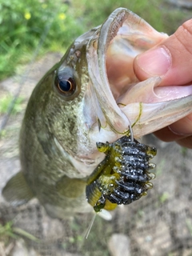
[[[171,55],[164,47],[148,50],[138,55],[137,64],[150,75],[163,75],[170,69]]]

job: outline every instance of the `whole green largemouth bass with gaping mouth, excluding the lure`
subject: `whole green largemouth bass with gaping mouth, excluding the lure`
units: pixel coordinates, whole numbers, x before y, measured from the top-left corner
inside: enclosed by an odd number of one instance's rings
[[[150,134],[192,112],[192,86],[139,82],[135,56],[166,39],[119,8],[78,37],[34,88],[20,135],[22,170],[3,195],[14,206],[36,197],[50,216],[89,212],[86,181],[105,155],[96,142]]]

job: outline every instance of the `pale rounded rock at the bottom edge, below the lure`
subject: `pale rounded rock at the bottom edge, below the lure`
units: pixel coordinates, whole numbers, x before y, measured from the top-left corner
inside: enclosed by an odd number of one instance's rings
[[[111,256],[130,256],[130,239],[125,234],[113,234],[108,248]]]

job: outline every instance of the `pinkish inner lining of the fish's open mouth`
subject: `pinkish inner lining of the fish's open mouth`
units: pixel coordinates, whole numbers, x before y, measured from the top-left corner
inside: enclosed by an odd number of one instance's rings
[[[135,14],[134,14],[135,15]],[[135,20],[134,20],[135,22]],[[118,106],[134,102],[156,103],[192,94],[192,85],[161,86],[161,78],[139,82],[134,74],[134,58],[167,38],[140,20],[133,26],[129,17],[118,27],[106,49],[106,76]]]

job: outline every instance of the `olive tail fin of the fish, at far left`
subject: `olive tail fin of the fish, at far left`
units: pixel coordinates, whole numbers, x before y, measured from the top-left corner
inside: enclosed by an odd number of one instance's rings
[[[21,171],[6,183],[2,190],[2,195],[13,206],[21,206],[30,201],[31,198],[34,198],[34,194]]]

